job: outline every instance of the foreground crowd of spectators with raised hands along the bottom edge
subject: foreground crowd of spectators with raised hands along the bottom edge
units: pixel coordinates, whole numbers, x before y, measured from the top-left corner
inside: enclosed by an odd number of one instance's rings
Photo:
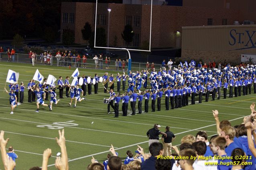
[[[231,126],[228,120],[219,121],[219,113],[213,110],[213,117],[216,121],[217,134],[208,138],[205,131],[189,134],[181,139],[179,148],[171,146],[175,153],[165,152],[165,141],[163,144],[158,140],[149,142],[149,153],[138,146],[133,153],[128,150],[125,160],[118,156],[114,147],[111,146],[107,160],[99,162],[93,156],[87,170],[255,170],[256,169],[256,110],[255,104],[250,106],[251,114],[245,116],[241,124]],[[163,134],[162,138],[168,138],[169,128],[166,132],[159,130],[161,126],[154,125],[148,131],[157,132],[154,135]],[[155,130],[154,130],[155,129]],[[151,133],[152,134],[152,133]],[[253,137],[252,137],[253,135]],[[174,134],[171,136],[175,138]],[[150,137],[149,137],[150,138]],[[9,138],[4,139],[4,131],[0,133],[0,147],[2,161],[5,170],[13,170],[16,166],[15,159],[18,156],[14,153],[12,146],[6,146]],[[57,157],[55,167],[59,170],[68,170],[67,149],[65,146],[64,130],[59,130],[57,144],[61,148],[61,158]],[[171,142],[173,140],[170,140]],[[48,159],[51,156],[51,149],[46,149],[43,153],[42,168],[33,167],[30,170],[47,170]]]

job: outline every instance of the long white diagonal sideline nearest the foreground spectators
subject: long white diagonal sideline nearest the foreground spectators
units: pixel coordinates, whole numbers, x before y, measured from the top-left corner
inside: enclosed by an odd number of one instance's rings
[[[244,118],[244,116],[243,116],[243,117],[240,117],[240,118]],[[238,120],[238,119],[240,119],[240,118],[235,118],[235,119],[232,119],[232,120],[229,120],[229,121]],[[207,127],[215,126],[215,125],[216,125],[216,124],[211,124],[211,125],[208,125],[208,126],[203,126],[203,127],[201,127],[201,128],[195,128],[195,129],[187,130],[187,131],[185,131],[185,132],[180,132],[180,133],[177,133],[177,134],[175,134],[175,135],[183,134],[183,133],[187,133],[187,132],[191,132],[191,131],[194,131],[194,130],[199,130],[199,129],[203,129],[203,128],[207,128]],[[115,149],[115,150],[120,150],[120,149],[128,148],[128,147],[131,147],[131,146],[136,146],[136,145],[139,145],[139,144],[144,144],[144,143],[146,143],[146,142],[148,142],[148,140],[147,140],[147,141],[144,141],[144,142],[140,142],[140,143],[136,143],[136,144],[124,146],[124,147],[121,147],[121,148],[117,148],[117,149]],[[110,151],[107,150],[107,151],[104,151],[104,152],[98,152],[98,153],[95,153],[95,154],[90,154],[90,155],[87,155],[87,156],[82,156],[82,157],[79,157],[79,158],[71,159],[71,160],[69,160],[68,162],[72,162],[72,161],[75,161],[75,160],[79,160],[79,159],[83,159],[83,158],[88,158],[88,157],[90,157],[90,156],[95,156],[95,155],[104,154],[104,153],[108,153],[108,152],[110,152]],[[51,165],[48,165],[48,166],[55,166],[55,164],[51,164]]]

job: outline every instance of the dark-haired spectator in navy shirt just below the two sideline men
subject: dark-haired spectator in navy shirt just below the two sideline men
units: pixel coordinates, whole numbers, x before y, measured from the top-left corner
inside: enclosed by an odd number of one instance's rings
[[[141,164],[141,170],[156,170],[155,162],[156,162],[158,155],[159,156],[163,155],[163,152],[164,152],[163,144],[157,143],[157,142],[152,143],[149,146],[149,152],[150,152],[151,156]],[[174,159],[169,159],[169,160],[171,162],[171,167],[173,167],[175,160]]]

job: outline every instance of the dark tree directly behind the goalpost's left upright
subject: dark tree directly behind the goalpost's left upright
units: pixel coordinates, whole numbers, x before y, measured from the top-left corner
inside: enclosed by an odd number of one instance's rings
[[[91,34],[91,37],[89,38],[89,46],[90,48],[94,47],[94,35],[95,32],[93,32]],[[96,46],[106,46],[107,44],[107,38],[106,38],[106,32],[105,29],[100,27],[100,28],[96,28]]]

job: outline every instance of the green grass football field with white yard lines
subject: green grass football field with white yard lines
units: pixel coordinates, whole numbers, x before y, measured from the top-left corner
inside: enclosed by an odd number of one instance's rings
[[[87,100],[77,102],[76,108],[68,105],[70,98],[64,98],[57,106],[53,106],[53,111],[49,111],[48,107],[40,106],[39,113],[35,112],[35,102],[27,103],[28,94],[25,91],[24,104],[15,108],[14,114],[11,115],[9,96],[3,92],[8,69],[19,72],[19,82],[23,81],[27,86],[28,80],[33,78],[37,68],[44,77],[52,74],[56,78],[71,76],[75,70],[75,68],[69,70],[65,67],[41,65],[32,67],[30,64],[0,62],[0,130],[6,132],[5,138],[10,138],[7,147],[13,146],[19,156],[16,160],[16,170],[41,166],[42,154],[46,148],[51,148],[52,155],[56,156],[60,151],[55,141],[55,137],[58,137],[58,129],[51,128],[65,128],[69,167],[71,170],[84,170],[90,163],[92,155],[100,162],[106,160],[111,144],[116,147],[122,159],[126,157],[126,150],[134,152],[137,144],[148,152],[146,132],[153,124],[160,124],[161,131],[164,131],[164,126],[171,126],[171,131],[177,135],[173,144],[178,145],[183,136],[195,135],[199,130],[205,130],[208,136],[216,134],[211,110],[219,110],[220,120],[230,120],[232,125],[237,125],[242,122],[244,116],[250,114],[250,104],[256,102],[256,94],[251,94],[166,111],[163,97],[161,112],[150,112],[149,109],[147,114],[113,118],[114,114],[106,114],[107,105],[103,103],[103,98],[108,98],[109,95],[104,93],[103,86],[99,83],[99,94],[87,95]],[[90,76],[94,76],[97,72],[102,76],[104,70],[81,68],[79,72],[80,75]],[[116,72],[108,72],[116,75]],[[57,96],[59,96],[58,91],[56,90]],[[120,103],[119,110],[122,114],[121,106]],[[131,111],[130,104],[128,111]],[[50,170],[55,169],[54,162],[55,158],[51,157]],[[2,162],[0,169],[4,169]]]

